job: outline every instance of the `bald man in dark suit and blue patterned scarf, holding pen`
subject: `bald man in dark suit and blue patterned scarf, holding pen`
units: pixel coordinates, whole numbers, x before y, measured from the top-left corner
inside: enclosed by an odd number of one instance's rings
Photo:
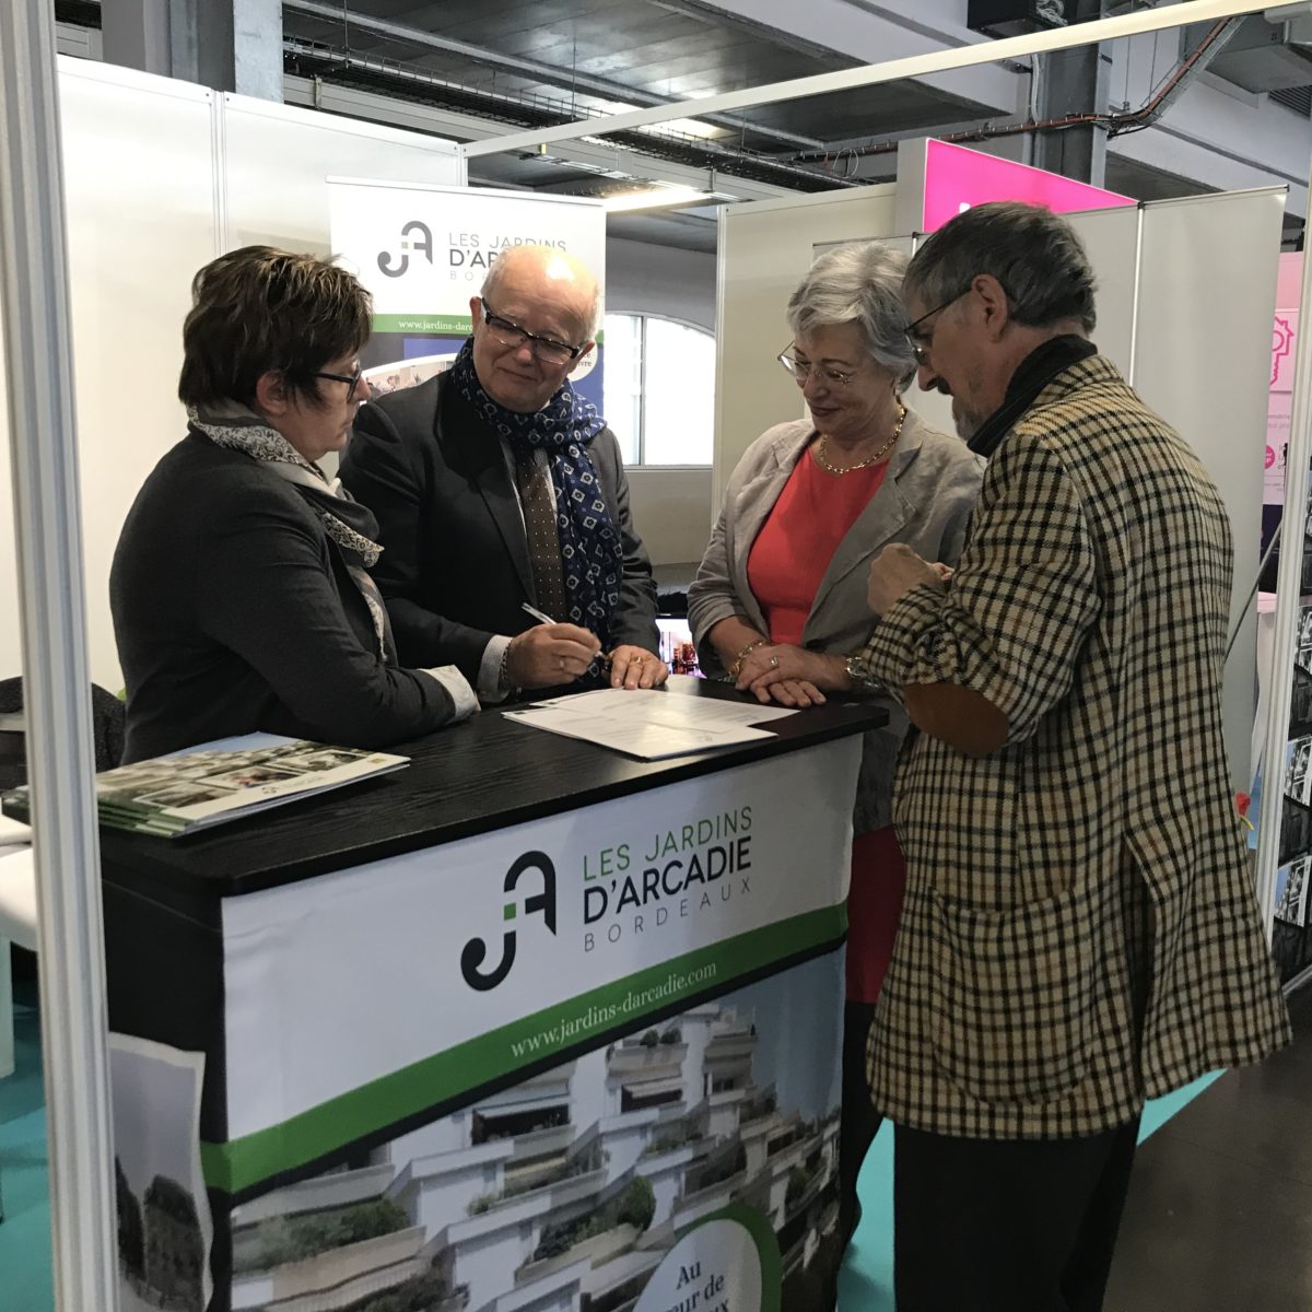
[[[560,251],[501,256],[453,367],[363,407],[341,464],[378,517],[401,663],[454,664],[484,699],[596,684],[602,653],[615,687],[669,674],[619,446],[567,380],[598,303]]]

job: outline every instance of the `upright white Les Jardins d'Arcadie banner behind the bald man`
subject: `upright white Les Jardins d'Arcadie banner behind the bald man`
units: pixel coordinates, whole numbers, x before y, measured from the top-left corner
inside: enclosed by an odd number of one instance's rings
[[[361,362],[375,396],[415,387],[450,365],[472,327],[470,298],[517,245],[577,256],[605,287],[600,201],[329,178],[328,210],[333,253],[374,298],[374,332]],[[598,346],[571,375],[598,409],[600,365]]]

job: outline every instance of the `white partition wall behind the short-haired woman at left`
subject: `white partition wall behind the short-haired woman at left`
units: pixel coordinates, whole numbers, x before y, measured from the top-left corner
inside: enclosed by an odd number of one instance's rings
[[[91,676],[122,685],[109,567],[123,517],[184,433],[192,276],[256,241],[328,253],[329,173],[463,181],[454,146],[148,73],[60,59]],[[3,386],[3,379],[0,379]],[[3,396],[0,396],[3,399]],[[0,678],[21,669],[0,409]]]

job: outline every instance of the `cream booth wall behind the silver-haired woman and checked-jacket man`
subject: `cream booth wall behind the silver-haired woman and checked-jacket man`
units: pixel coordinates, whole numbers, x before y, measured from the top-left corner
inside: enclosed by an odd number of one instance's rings
[[[1235,534],[1225,732],[1236,790],[1252,781],[1256,619],[1248,606],[1262,521],[1270,327],[1284,189],[1191,197],[1068,215],[1098,277],[1099,349],[1202,457]],[[803,413],[798,388],[769,362],[787,344],[785,306],[816,249],[899,231],[899,184],[720,211],[715,500],[743,451],[781,417]],[[911,404],[951,432],[949,400]]]

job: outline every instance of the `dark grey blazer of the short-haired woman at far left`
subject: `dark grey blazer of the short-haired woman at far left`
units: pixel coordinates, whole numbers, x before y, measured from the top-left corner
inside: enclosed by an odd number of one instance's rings
[[[125,762],[256,729],[387,747],[454,718],[436,678],[382,663],[365,600],[295,488],[198,433],[129,510],[109,600]]]

